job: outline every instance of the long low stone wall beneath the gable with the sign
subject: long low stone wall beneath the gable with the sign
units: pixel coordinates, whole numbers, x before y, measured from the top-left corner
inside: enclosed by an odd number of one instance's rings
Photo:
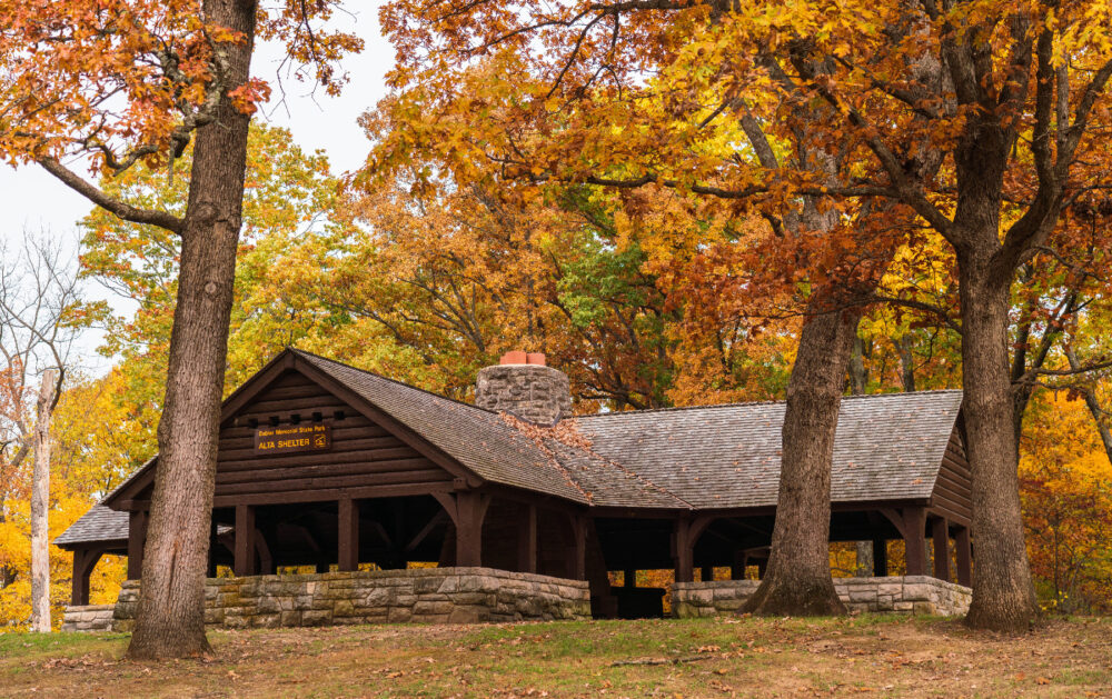
[[[138,599],[138,582],[129,580],[116,603],[115,630],[131,630]],[[205,622],[210,627],[589,618],[586,581],[493,568],[209,578],[205,583]]]

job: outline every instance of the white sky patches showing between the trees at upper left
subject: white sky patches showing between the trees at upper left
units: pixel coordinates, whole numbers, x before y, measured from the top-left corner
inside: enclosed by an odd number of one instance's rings
[[[344,61],[350,81],[338,98],[330,98],[324,90],[310,94],[312,86],[285,79],[285,104],[275,104],[280,96],[276,71],[281,61],[281,47],[261,44],[252,59],[252,73],[271,83],[271,104],[260,110],[257,119],[288,128],[294,140],[306,151],[324,149],[332,171],[341,173],[363,164],[369,143],[356,123],[359,114],[374,107],[386,94],[385,76],[394,63],[394,49],[381,37],[378,27],[378,8],[384,0],[349,2],[347,14],[337,12],[332,27],[360,36],[364,52]],[[24,230],[48,231],[50,237],[77,249],[79,232],[77,221],[91,209],[91,204],[38,167],[19,170],[0,164],[0,240],[18,247]],[[107,299],[118,312],[129,312],[132,306],[89,284],[86,297]],[[96,355],[100,333],[87,332],[79,341],[75,355],[82,368],[100,371],[107,368]]]

